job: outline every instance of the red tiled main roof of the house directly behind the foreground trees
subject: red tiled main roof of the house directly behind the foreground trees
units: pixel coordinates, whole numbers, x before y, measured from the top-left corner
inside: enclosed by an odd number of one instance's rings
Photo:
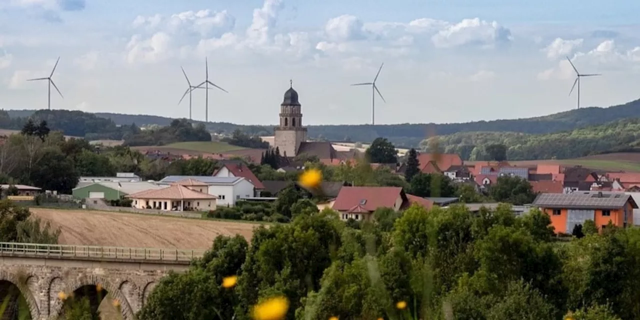
[[[349,211],[356,205],[367,211],[375,211],[379,207],[393,208],[402,195],[400,187],[342,187],[333,203],[333,210]]]

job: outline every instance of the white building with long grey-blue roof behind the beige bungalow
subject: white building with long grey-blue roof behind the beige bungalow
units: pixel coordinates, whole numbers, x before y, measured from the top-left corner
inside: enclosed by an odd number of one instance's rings
[[[210,177],[208,175],[168,175],[160,180],[159,184],[172,185],[176,182],[186,183],[189,179],[194,183],[203,183],[207,186],[209,195],[218,197],[217,205],[234,206],[237,200],[253,198],[254,186],[244,177]],[[196,187],[196,186],[193,186]],[[204,186],[198,186],[204,192]]]

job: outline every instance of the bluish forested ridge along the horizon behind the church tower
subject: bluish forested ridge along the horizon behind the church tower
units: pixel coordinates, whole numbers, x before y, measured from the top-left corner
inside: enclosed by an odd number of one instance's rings
[[[34,112],[35,110],[7,110],[11,118],[27,117]],[[169,125],[173,120],[173,118],[154,115],[124,115],[119,113],[95,113],[95,115],[111,119],[116,125],[131,125],[132,123],[137,125]],[[429,125],[435,129],[435,133],[438,135],[476,131],[545,134],[637,117],[640,117],[640,99],[608,108],[580,108],[533,118]],[[227,122],[209,122],[205,125],[214,132],[230,133],[240,129],[248,134],[263,136],[273,134],[273,125],[237,125]],[[414,147],[425,138],[427,133],[426,125],[310,125],[308,126],[308,134],[312,138],[354,142],[367,142],[378,137],[385,137],[395,143],[397,147]]]

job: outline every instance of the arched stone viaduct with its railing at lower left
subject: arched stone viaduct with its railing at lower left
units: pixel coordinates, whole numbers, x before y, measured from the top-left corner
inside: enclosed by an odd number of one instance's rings
[[[94,311],[109,296],[120,304],[122,318],[130,320],[160,278],[170,270],[185,271],[203,254],[204,250],[0,243],[0,305],[10,297],[0,319],[17,319],[20,296],[33,320],[57,319],[64,307],[61,296],[86,296]]]

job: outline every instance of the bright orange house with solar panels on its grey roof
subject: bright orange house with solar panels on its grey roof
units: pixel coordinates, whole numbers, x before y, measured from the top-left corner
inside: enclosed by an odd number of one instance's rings
[[[587,220],[593,220],[599,230],[609,221],[621,228],[633,225],[633,209],[638,209],[630,195],[613,192],[541,193],[532,205],[549,215],[556,233],[564,234]]]

